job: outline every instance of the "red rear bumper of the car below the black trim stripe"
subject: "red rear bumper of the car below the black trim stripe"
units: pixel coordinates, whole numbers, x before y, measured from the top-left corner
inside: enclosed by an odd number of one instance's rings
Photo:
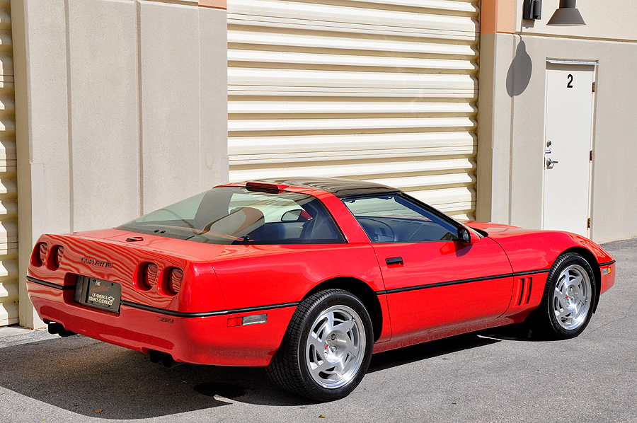
[[[267,366],[281,344],[295,306],[266,311],[224,313],[203,317],[168,315],[127,304],[110,313],[76,303],[74,289],[27,282],[29,297],[40,318],[64,329],[135,349],[171,354],[185,363],[219,366]],[[228,319],[268,314],[266,323],[228,327]]]

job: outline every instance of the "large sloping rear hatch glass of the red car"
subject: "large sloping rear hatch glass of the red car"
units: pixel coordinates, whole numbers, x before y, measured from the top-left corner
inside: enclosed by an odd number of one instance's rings
[[[345,242],[319,199],[241,187],[213,188],[117,229],[212,244]]]

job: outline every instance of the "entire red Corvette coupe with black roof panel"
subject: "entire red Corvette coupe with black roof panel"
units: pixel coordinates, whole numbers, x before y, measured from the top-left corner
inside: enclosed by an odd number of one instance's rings
[[[575,337],[614,267],[573,233],[461,224],[384,185],[262,180],[43,235],[28,290],[52,333],[167,366],[267,366],[325,401],[360,383],[373,352],[524,320]]]

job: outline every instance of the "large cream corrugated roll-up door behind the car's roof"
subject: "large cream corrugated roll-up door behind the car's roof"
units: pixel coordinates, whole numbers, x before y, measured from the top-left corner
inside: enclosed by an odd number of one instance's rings
[[[472,218],[478,0],[229,0],[230,179],[335,176]]]

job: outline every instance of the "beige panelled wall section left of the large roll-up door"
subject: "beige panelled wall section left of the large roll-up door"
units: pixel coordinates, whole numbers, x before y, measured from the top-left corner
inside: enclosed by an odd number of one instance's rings
[[[226,11],[203,6],[11,1],[22,325],[38,326],[24,281],[40,233],[116,226],[226,182]]]

